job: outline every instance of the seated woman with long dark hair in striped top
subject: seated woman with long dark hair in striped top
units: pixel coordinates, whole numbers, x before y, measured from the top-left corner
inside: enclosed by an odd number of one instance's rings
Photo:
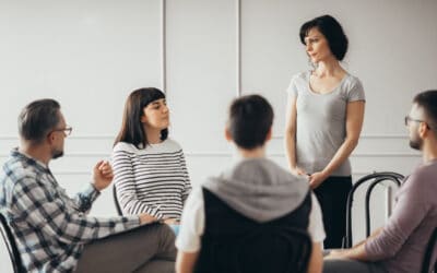
[[[191,185],[182,149],[167,138],[168,124],[162,91],[129,95],[113,150],[114,181],[123,214],[147,213],[177,233]]]

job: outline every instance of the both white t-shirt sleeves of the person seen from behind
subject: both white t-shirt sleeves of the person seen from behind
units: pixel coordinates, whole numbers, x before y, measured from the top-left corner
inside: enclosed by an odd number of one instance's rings
[[[309,213],[308,234],[314,242],[321,242],[324,237],[323,222],[319,202],[311,193],[311,211]],[[180,223],[176,247],[185,252],[197,252],[201,248],[204,232],[204,204],[202,187],[196,187],[187,199]]]

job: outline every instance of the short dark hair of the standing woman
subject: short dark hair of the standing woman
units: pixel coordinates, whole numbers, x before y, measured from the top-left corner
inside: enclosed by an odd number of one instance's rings
[[[317,27],[327,38],[332,55],[338,60],[343,60],[347,51],[349,41],[340,23],[331,15],[322,15],[306,22],[300,26],[299,36],[302,44],[305,45],[305,37],[314,27]]]

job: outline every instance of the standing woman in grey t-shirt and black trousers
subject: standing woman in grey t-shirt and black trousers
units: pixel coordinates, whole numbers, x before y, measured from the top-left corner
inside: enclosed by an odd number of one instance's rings
[[[308,175],[323,213],[324,248],[340,248],[345,234],[349,156],[358,143],[365,95],[359,80],[340,61],[347,37],[330,15],[306,22],[300,41],[312,69],[293,76],[288,93],[285,146],[296,175]]]

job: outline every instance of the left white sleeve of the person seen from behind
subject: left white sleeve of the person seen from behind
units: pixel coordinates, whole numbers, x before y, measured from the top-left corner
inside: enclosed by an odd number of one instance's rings
[[[185,252],[197,252],[204,230],[204,206],[201,187],[192,189],[184,207],[176,247]]]

